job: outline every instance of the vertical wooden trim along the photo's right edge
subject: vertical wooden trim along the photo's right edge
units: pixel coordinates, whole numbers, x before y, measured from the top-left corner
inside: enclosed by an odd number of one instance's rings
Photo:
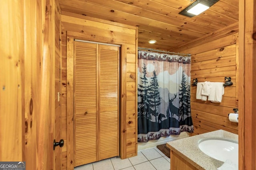
[[[239,170],[256,168],[255,18],[256,2],[239,0]]]

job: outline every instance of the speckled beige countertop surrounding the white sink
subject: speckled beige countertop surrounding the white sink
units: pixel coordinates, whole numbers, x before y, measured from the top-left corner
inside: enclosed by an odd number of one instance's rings
[[[167,143],[167,147],[176,152],[199,170],[216,170],[222,166],[224,162],[204,154],[204,152],[202,152],[198,147],[198,143],[207,138],[221,138],[238,142],[238,135],[224,130],[218,130],[171,141]]]

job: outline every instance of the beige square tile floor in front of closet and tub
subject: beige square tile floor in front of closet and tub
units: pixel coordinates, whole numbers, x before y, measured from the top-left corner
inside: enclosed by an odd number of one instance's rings
[[[170,158],[156,147],[138,151],[138,156],[110,158],[76,167],[75,170],[170,170]]]

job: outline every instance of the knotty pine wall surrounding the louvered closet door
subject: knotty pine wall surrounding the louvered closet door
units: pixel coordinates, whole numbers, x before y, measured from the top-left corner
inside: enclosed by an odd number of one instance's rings
[[[62,81],[61,81],[61,138],[65,143],[70,143],[70,129],[67,129],[67,43],[68,37],[86,41],[112,43],[121,46],[122,58],[120,59],[120,156],[128,158],[137,155],[137,47],[138,30],[136,27],[122,25],[110,21],[98,20],[87,16],[62,12]],[[67,140],[68,139],[68,140]],[[66,145],[70,146],[70,145]],[[70,149],[62,148],[62,169],[72,169],[74,160],[70,159]],[[72,150],[70,150],[72,152]]]

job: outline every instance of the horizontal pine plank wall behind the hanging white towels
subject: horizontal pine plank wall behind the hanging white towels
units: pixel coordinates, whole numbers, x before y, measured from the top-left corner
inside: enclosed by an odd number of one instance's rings
[[[228,119],[228,113],[238,108],[238,23],[179,47],[176,52],[192,55],[191,84],[194,78],[198,82],[224,82],[224,77],[231,77],[234,83],[225,87],[221,103],[196,100],[196,86],[191,86],[192,135],[218,129],[238,134],[238,123]]]

